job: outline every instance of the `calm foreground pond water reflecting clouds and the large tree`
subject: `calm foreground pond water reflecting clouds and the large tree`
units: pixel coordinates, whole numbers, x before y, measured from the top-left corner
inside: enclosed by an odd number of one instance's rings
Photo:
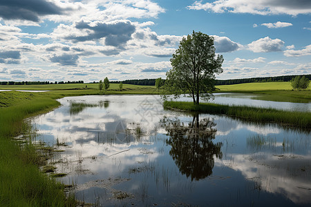
[[[310,132],[164,110],[160,97],[66,97],[32,119],[77,199],[97,206],[310,206]],[[82,104],[77,104],[82,103]],[[63,151],[64,150],[64,151]]]

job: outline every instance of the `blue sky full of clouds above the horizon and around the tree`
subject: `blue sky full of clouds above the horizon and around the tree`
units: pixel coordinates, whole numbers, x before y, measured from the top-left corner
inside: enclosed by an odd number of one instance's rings
[[[311,73],[310,0],[0,0],[0,81],[165,78],[193,31],[217,79]]]

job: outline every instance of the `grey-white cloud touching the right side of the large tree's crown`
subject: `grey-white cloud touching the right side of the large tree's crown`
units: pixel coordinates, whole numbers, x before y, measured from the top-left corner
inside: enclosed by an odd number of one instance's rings
[[[214,37],[216,52],[233,52],[243,48],[241,44],[232,41],[228,37],[219,37],[217,35],[211,36]]]

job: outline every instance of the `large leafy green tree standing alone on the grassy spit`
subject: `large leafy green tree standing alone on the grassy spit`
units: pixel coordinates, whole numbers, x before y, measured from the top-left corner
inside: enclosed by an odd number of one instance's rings
[[[202,32],[192,32],[182,38],[180,46],[170,60],[172,69],[167,72],[164,97],[188,94],[194,104],[213,97],[215,74],[223,72],[223,55],[215,55],[214,37]]]

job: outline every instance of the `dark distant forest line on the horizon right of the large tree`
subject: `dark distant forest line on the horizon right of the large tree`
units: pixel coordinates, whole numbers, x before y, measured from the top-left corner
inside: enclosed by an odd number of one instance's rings
[[[309,80],[311,79],[311,74],[309,75],[284,75],[284,76],[277,76],[277,77],[256,77],[256,78],[249,78],[249,79],[229,79],[229,80],[216,80],[215,85],[233,85],[239,83],[263,83],[263,82],[287,82],[291,81],[292,78],[296,76],[305,76]]]

